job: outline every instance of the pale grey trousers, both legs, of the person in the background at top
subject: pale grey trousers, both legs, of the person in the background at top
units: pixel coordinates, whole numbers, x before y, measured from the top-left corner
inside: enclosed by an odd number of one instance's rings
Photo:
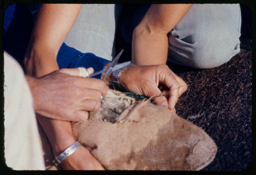
[[[84,4],[65,42],[81,52],[111,60],[121,6]],[[141,6],[122,21],[122,36],[131,42],[132,31],[149,6]],[[189,67],[214,68],[240,52],[239,4],[194,4],[168,34],[168,61]]]

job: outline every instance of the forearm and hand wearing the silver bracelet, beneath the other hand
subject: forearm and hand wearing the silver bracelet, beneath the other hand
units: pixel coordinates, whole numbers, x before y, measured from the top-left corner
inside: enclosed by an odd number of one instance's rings
[[[59,156],[63,150],[76,142],[70,122],[54,119],[51,119],[51,122],[49,122],[48,118],[42,116],[37,116],[37,119],[41,126],[44,126],[43,128],[52,145],[55,157]],[[104,170],[102,165],[91,155],[90,151],[83,146],[79,146],[60,165],[66,170]]]

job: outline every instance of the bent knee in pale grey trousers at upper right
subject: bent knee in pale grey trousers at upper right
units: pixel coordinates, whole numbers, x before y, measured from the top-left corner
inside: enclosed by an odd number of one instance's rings
[[[170,32],[170,56],[174,56],[174,62],[200,69],[215,68],[239,53],[239,11],[237,4],[193,5]]]

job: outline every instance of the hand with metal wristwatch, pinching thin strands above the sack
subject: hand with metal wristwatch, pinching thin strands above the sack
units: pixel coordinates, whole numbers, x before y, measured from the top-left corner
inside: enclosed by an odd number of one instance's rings
[[[127,66],[120,75],[120,83],[132,92],[154,96],[156,104],[168,106],[171,111],[175,111],[178,98],[187,89],[187,84],[165,64]],[[160,83],[168,90],[161,91]]]

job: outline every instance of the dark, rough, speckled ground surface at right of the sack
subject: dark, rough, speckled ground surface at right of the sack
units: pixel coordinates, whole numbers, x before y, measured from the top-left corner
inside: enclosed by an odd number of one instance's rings
[[[240,171],[251,163],[252,30],[249,8],[241,5],[241,11],[238,55],[214,69],[173,69],[189,85],[177,114],[202,127],[218,146],[215,160],[203,170]]]

